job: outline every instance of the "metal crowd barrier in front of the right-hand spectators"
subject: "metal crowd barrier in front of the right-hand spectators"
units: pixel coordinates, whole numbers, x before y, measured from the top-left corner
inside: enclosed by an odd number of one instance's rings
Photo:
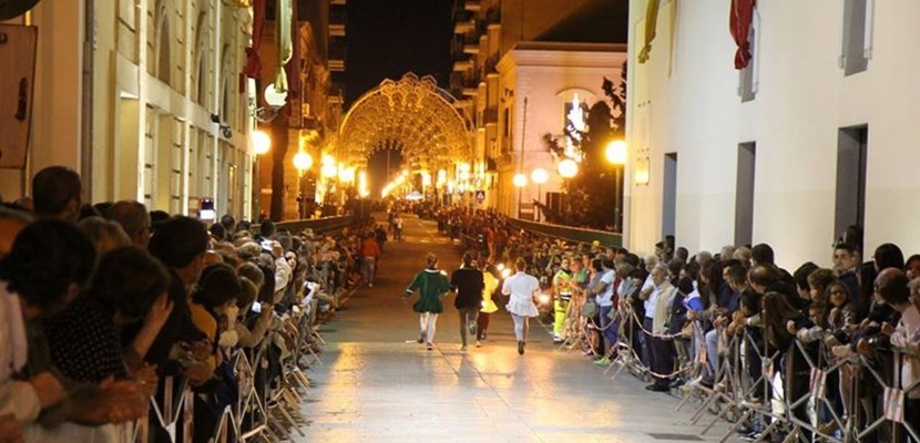
[[[581,347],[591,349],[587,341],[587,331],[600,330],[591,326],[593,319],[585,319],[580,315],[580,305],[583,300],[573,298],[569,306],[563,343],[559,349],[571,351]],[[635,318],[635,313],[623,305],[617,310],[617,320],[613,322],[619,326],[619,342],[615,343],[611,365],[605,373],[616,369],[611,377],[615,379],[624,370],[635,377],[648,381],[652,375],[663,378],[681,377],[689,382],[692,377],[699,377],[702,372],[708,371],[706,344],[702,340],[702,328],[698,321],[694,321],[693,339],[691,346],[694,352],[686,358],[675,358],[673,371],[667,374],[655,374],[643,362],[641,352],[637,352],[633,344],[634,334],[651,333],[642,330],[642,322]],[[638,324],[638,330],[634,328]],[[913,442],[920,442],[920,430],[916,429],[904,419],[904,401],[908,392],[920,389],[920,380],[913,381],[910,385],[901,385],[901,368],[906,359],[919,360],[920,354],[906,349],[892,348],[881,351],[875,359],[856,354],[847,358],[834,358],[822,340],[816,340],[812,344],[794,340],[785,353],[771,350],[767,347],[766,338],[763,343],[750,334],[748,327],[744,327],[742,333],[730,337],[725,336],[724,328],[719,328],[719,365],[714,374],[714,385],[707,388],[698,383],[684,384],[683,398],[676,410],[686,406],[691,401],[698,400],[698,404],[692,414],[691,423],[697,424],[708,412],[713,415],[709,423],[704,427],[703,434],[708,433],[719,420],[732,423],[728,432],[720,439],[722,442],[732,440],[735,431],[746,423],[761,424],[759,426],[760,437],[755,440],[768,441],[774,432],[786,434],[785,442],[811,441],[811,442],[875,442],[878,441],[876,432],[886,430],[892,442],[907,442],[908,437]],[[658,336],[664,339],[675,339],[677,334]],[[681,344],[681,343],[677,343]],[[681,344],[683,346],[683,344]],[[877,350],[879,351],[879,350]],[[750,375],[750,361],[760,362],[760,375]],[[891,358],[893,364],[890,372],[882,372],[878,368],[880,359]],[[798,367],[798,373],[786,373],[788,371],[776,368],[780,362],[786,363],[788,359],[801,359],[804,365]],[[784,374],[780,377],[780,371]],[[860,398],[871,393],[861,392],[858,379],[861,374],[870,377],[880,388],[881,395],[878,401],[882,408],[878,416],[867,416],[862,425],[859,425],[857,416],[863,414]],[[835,403],[838,400],[836,393],[829,390],[838,390],[839,385],[828,380],[836,381],[845,378],[849,382],[849,404],[841,406]],[[797,392],[795,398],[790,389],[795,384]],[[842,399],[842,394],[839,395]],[[796,413],[798,411],[798,414]],[[803,419],[803,415],[806,418]],[[827,424],[822,426],[821,423]],[[817,425],[816,425],[817,423]],[[756,427],[756,426],[755,426]],[[800,440],[796,440],[800,439]]]

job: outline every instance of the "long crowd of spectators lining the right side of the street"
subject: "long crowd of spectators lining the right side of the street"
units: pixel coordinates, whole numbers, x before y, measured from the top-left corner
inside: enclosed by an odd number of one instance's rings
[[[545,323],[563,348],[628,365],[650,391],[684,387],[749,411],[737,426],[745,439],[917,441],[920,255],[904,260],[883,244],[863,261],[851,227],[829,251],[832,267],[789,272],[767,244],[691,255],[668,237],[640,257],[515,230],[493,212],[436,217],[487,267],[523,258],[553,300]],[[886,418],[897,424],[875,425]]]

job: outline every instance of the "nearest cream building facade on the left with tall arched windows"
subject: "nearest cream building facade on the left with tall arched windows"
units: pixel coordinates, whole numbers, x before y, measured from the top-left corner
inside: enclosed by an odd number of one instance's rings
[[[245,4],[42,1],[24,21],[41,35],[30,159],[4,172],[3,195],[28,194],[25,177],[64,165],[81,173],[88,202],[195,215],[209,198],[218,214],[248,216]]]

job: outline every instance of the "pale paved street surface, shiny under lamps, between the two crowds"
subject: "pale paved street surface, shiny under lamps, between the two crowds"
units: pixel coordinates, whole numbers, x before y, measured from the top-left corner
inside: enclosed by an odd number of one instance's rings
[[[518,356],[503,307],[483,347],[461,353],[457,310],[446,299],[436,348],[426,351],[416,342],[418,317],[400,296],[427,251],[450,272],[461,250],[433,222],[405,220],[405,240],[387,243],[375,286],[358,289],[320,328],[324,364],[306,372],[309,423],[295,441],[643,443],[718,441],[726,432],[718,422],[701,436],[711,415],[689,425],[697,403],[675,412],[676,394],[648,392],[625,372],[611,381],[581,352],[558,350],[538,321]]]

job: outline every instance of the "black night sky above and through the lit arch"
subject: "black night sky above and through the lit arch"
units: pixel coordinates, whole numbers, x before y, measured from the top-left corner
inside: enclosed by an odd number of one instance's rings
[[[384,79],[412,71],[435,75],[449,87],[453,34],[451,0],[349,0],[348,62],[345,72],[346,106]],[[391,153],[390,171],[399,171],[402,156]],[[387,155],[368,162],[371,195],[379,196],[387,177]]]

